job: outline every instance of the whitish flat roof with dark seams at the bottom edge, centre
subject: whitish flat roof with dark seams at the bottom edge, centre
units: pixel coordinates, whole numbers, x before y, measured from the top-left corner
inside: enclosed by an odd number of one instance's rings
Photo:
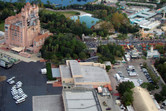
[[[93,91],[64,91],[66,111],[101,111],[97,96]]]

